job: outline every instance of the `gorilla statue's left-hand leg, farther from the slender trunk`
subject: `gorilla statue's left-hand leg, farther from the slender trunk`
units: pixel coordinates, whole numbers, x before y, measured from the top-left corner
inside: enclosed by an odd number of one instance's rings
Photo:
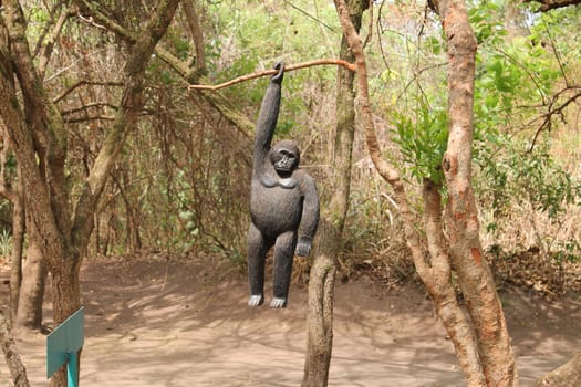
[[[250,229],[248,230],[249,306],[259,306],[264,302],[264,260],[268,248],[260,230],[253,223],[250,223]]]

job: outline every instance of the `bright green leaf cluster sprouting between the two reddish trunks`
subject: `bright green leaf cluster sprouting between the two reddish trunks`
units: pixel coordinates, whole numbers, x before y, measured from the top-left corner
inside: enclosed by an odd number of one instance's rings
[[[430,108],[424,98],[419,98],[411,112],[395,112],[392,124],[395,128],[393,140],[400,145],[404,161],[411,165],[411,175],[419,181],[429,178],[437,185],[442,184],[440,164],[448,142],[447,111]]]

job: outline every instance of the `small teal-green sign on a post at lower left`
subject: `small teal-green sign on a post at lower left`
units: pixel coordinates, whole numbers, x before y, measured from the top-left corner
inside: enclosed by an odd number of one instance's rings
[[[84,343],[84,306],[46,336],[46,378],[66,364],[68,386],[79,386],[79,351]]]

